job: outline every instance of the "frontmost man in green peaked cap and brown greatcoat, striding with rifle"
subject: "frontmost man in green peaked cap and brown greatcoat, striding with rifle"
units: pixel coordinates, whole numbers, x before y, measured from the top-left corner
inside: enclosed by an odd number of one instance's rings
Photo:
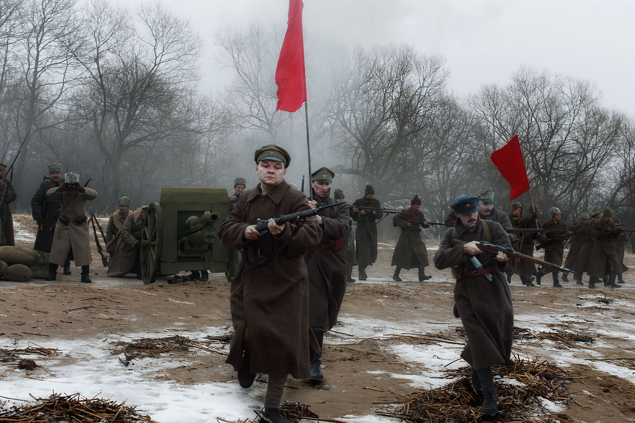
[[[315,216],[302,225],[277,225],[273,216],[310,210],[307,197],[284,181],[291,162],[277,145],[254,156],[260,184],[244,192],[218,230],[227,248],[243,248],[243,263],[231,286],[234,336],[226,362],[248,388],[257,373],[269,375],[265,419],[289,423],[280,412],[287,375],[309,379],[311,358],[319,353],[309,326],[309,277],[302,250],[318,245],[322,230]],[[271,216],[267,232],[258,218]]]

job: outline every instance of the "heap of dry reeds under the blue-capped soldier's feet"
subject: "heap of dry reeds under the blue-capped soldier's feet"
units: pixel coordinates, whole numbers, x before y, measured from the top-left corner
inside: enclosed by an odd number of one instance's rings
[[[567,403],[570,399],[568,384],[572,377],[547,361],[535,358],[521,360],[516,357],[514,367],[494,369],[497,385],[498,422],[540,422],[544,409],[543,398],[554,403]],[[378,410],[379,415],[402,419],[406,423],[448,422],[476,423],[485,417],[479,409],[482,393],[471,384],[472,369],[462,367],[448,372],[457,377],[453,382],[406,396],[398,396],[394,405]]]

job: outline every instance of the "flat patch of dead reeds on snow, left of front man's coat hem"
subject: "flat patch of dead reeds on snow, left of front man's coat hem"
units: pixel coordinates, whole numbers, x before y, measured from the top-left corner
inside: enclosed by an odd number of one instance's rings
[[[201,349],[203,351],[209,351],[210,353],[227,355],[222,351],[211,348],[217,341],[196,341],[184,336],[174,335],[164,338],[142,338],[135,339],[132,342],[117,341],[111,342],[114,344],[114,348],[109,348],[111,355],[123,354],[125,360],[121,360],[121,363],[126,367],[130,364],[130,361],[135,358],[157,358],[161,354],[173,353],[175,351],[187,352],[190,349]]]

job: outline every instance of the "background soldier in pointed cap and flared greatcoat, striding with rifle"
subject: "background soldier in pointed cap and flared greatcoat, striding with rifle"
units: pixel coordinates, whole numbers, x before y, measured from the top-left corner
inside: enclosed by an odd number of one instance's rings
[[[428,251],[421,239],[421,228],[429,228],[430,223],[425,219],[424,213],[419,211],[421,200],[417,195],[410,200],[410,208],[395,214],[392,225],[401,230],[399,240],[392,253],[391,266],[397,266],[392,280],[401,282],[399,272],[402,268],[410,270],[418,268],[419,282],[432,278],[425,274],[425,266],[430,264]]]

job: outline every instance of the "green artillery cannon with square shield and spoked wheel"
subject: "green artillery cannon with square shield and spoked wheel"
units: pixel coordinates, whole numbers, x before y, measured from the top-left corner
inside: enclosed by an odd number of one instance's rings
[[[161,201],[150,203],[141,234],[144,284],[182,270],[227,271],[218,227],[229,211],[224,188],[161,188]]]

